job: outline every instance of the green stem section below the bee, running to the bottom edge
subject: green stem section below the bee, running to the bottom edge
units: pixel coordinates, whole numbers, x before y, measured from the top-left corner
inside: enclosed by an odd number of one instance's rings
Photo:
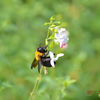
[[[37,77],[35,86],[34,86],[34,88],[33,88],[33,91],[32,91],[31,94],[30,94],[29,100],[33,100],[33,98],[35,97],[35,94],[36,94],[36,91],[37,91],[37,88],[38,88],[38,86],[39,86],[39,82],[40,82],[40,79],[41,79],[41,76],[42,76],[42,75],[41,75],[42,69],[43,69],[43,66],[42,66],[42,68],[41,68],[41,70],[40,70],[40,74],[39,74],[38,77]]]

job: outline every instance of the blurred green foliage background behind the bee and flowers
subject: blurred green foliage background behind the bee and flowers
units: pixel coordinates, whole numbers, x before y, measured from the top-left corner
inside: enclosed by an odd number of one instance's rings
[[[30,66],[38,45],[45,45],[44,23],[51,16],[70,32],[68,48],[47,76],[42,73],[34,100],[99,100],[99,5],[99,0],[0,0],[0,100],[28,100],[38,76]],[[76,82],[64,88],[68,76]],[[97,92],[87,95],[88,90]]]

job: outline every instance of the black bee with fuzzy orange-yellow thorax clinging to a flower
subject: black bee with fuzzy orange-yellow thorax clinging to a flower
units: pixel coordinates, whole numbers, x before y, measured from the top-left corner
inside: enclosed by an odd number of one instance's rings
[[[45,47],[39,46],[35,52],[35,58],[32,62],[31,69],[35,68],[38,65],[38,72],[40,73],[40,69],[43,66],[45,67],[52,67],[50,64],[50,57],[47,57],[49,51],[47,52],[46,48],[48,45]],[[56,62],[54,62],[56,64]]]

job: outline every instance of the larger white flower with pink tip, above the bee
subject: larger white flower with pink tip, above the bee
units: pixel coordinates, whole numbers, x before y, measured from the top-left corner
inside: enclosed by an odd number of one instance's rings
[[[59,42],[60,43],[60,48],[62,48],[63,46],[66,46],[69,38],[67,37],[69,34],[69,32],[65,29],[65,28],[61,28],[60,30],[58,30],[58,33],[55,33],[55,42]]]

